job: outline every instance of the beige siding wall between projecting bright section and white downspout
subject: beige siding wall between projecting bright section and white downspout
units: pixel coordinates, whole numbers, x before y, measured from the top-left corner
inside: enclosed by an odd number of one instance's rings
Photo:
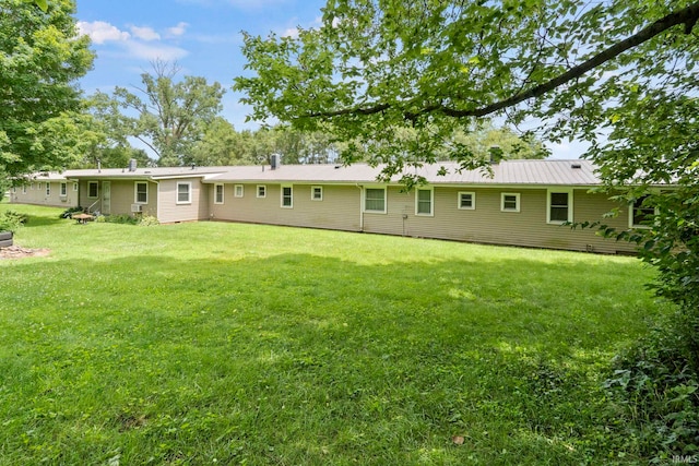
[[[210,184],[213,219],[297,227],[360,230],[360,190],[355,186],[322,186],[322,200],[311,199],[320,184],[283,184],[293,188],[293,206],[282,207],[282,186],[264,184],[266,195],[257,196],[262,183],[244,183],[242,198],[235,196],[235,184],[224,184],[224,203],[214,204],[215,186]]]

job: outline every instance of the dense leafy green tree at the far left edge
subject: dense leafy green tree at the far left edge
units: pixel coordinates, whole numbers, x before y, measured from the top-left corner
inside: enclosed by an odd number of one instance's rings
[[[44,2],[38,2],[42,7]],[[72,0],[0,5],[0,172],[67,167],[81,157],[80,89],[92,67]]]

